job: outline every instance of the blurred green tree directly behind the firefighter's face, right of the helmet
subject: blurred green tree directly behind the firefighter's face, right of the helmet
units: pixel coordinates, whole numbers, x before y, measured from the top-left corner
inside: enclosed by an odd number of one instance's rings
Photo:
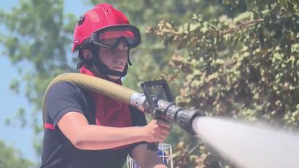
[[[120,8],[131,21],[131,24],[141,29],[142,44],[131,52],[133,66],[129,67],[129,73],[125,77],[124,85],[141,91],[141,82],[147,80],[166,78],[170,82],[172,93],[179,95],[179,87],[183,80],[171,80],[167,74],[172,72],[168,62],[172,54],[176,52],[175,46],[165,45],[165,41],[159,41],[147,30],[155,26],[159,20],[168,19],[174,25],[185,24],[190,21],[194,12],[201,11],[206,19],[224,14],[225,10],[218,1],[115,1],[108,3]],[[91,1],[93,5],[98,1]],[[133,5],[134,4],[134,5]],[[183,134],[183,136],[182,136]],[[167,142],[176,145],[180,140],[190,142],[190,148],[197,145],[198,140],[173,124],[172,134]]]

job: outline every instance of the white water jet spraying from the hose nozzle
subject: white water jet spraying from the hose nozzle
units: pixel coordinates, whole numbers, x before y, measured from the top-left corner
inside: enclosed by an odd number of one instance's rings
[[[203,142],[238,167],[299,167],[298,133],[208,117],[195,118],[192,127]]]

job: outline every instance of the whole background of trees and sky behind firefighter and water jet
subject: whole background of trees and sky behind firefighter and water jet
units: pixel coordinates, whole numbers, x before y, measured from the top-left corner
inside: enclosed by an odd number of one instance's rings
[[[39,167],[44,91],[76,71],[73,28],[100,2],[0,1],[0,168]],[[298,130],[298,1],[105,2],[141,29],[125,86],[164,78],[179,106]],[[166,142],[174,167],[234,167],[176,124]]]

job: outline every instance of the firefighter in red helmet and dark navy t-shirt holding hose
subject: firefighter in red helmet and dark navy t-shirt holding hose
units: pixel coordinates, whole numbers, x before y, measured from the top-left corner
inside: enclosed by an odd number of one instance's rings
[[[78,19],[72,51],[80,73],[116,84],[131,65],[129,50],[141,35],[120,10],[99,3]],[[123,167],[127,155],[140,167],[165,167],[149,142],[163,142],[170,124],[152,120],[118,100],[57,82],[47,93],[42,167]]]

